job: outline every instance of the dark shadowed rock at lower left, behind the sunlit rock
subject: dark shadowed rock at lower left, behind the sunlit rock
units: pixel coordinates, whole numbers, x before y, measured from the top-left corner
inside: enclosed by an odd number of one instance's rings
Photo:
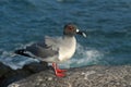
[[[45,62],[31,63],[24,65],[21,70],[12,70],[0,63],[0,87],[7,87],[9,84],[25,78],[32,74],[47,70],[49,66]]]

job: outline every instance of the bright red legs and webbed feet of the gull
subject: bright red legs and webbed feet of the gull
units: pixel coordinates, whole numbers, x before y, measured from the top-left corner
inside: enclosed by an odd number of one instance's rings
[[[56,63],[52,63],[52,67],[55,69],[55,74],[58,77],[63,77],[66,76],[63,72],[66,72],[66,70],[60,70]]]

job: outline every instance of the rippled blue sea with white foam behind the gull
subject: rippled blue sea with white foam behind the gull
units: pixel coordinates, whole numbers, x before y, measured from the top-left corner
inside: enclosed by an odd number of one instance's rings
[[[12,69],[38,62],[17,48],[60,36],[67,23],[85,30],[63,67],[131,64],[131,0],[0,0],[0,61]]]

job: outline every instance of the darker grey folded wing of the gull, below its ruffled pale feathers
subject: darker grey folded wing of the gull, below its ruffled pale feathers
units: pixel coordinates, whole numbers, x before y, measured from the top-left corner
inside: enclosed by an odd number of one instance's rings
[[[36,42],[26,47],[26,52],[38,58],[50,58],[58,55],[59,49],[52,49],[53,46],[47,46],[45,42]]]

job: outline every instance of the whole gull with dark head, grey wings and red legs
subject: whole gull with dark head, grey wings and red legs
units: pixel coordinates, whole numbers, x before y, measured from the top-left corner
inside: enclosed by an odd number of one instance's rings
[[[63,27],[63,36],[45,36],[43,41],[26,46],[24,49],[17,49],[15,53],[52,63],[56,76],[63,77],[66,70],[60,70],[57,64],[73,57],[76,49],[76,34],[86,37],[84,32],[80,32],[74,24],[69,23]]]

